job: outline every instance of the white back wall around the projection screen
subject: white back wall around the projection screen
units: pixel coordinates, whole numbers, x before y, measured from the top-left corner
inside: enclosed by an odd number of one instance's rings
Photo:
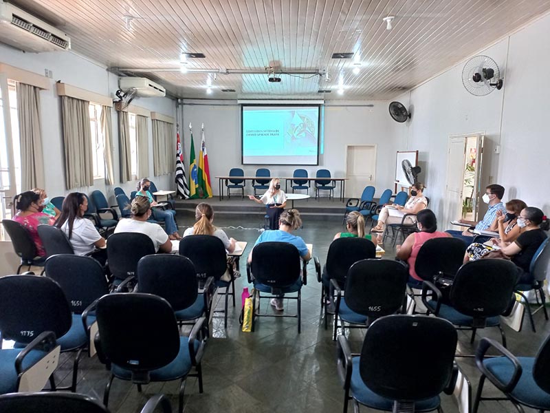
[[[366,107],[373,104],[374,107]],[[341,105],[341,106],[340,106]],[[265,165],[241,164],[241,108],[234,101],[184,100],[183,105],[185,163],[189,162],[189,123],[193,127],[195,154],[198,157],[201,141],[201,124],[204,123],[208,163],[212,190],[217,194],[218,182],[214,176],[227,176],[233,167],[242,167],[245,175],[254,176],[258,167]],[[388,114],[388,102],[349,102],[325,107],[325,147],[319,166],[303,167],[309,176],[317,169],[329,169],[333,176],[346,174],[346,145],[377,144],[378,162],[375,186],[380,193],[393,188],[395,151],[397,142],[393,123]],[[389,160],[389,161],[388,161]],[[267,166],[269,167],[269,166]],[[269,167],[272,176],[292,176],[296,166]],[[302,168],[302,166],[300,166]],[[188,176],[188,171],[186,171]],[[249,191],[250,188],[248,188]],[[380,195],[377,193],[377,195]],[[360,194],[356,194],[360,195]]]

